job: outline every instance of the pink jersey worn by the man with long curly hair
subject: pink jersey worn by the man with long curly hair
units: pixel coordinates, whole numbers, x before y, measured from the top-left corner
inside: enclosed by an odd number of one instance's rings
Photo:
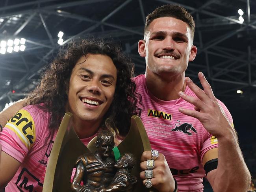
[[[0,132],[2,151],[21,163],[6,186],[6,192],[43,190],[48,157],[57,133],[52,138],[48,137],[49,119],[48,112],[36,105],[28,105],[18,111]],[[87,145],[95,135],[81,141]]]

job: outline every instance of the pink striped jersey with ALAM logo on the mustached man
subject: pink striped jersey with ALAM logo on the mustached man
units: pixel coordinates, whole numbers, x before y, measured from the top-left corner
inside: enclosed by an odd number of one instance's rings
[[[194,109],[193,105],[182,98],[163,101],[154,97],[147,89],[145,75],[133,80],[142,96],[143,107],[139,107],[139,113],[152,149],[165,155],[177,180],[178,191],[202,192],[202,178],[205,176],[202,158],[206,151],[218,147],[217,138],[208,133],[199,120],[178,111],[179,107]],[[196,97],[189,87],[185,93]],[[228,109],[222,102],[219,104],[232,124]]]

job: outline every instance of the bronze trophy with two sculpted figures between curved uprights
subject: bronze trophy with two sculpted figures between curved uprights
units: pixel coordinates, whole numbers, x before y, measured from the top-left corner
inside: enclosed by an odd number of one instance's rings
[[[151,150],[139,116],[132,116],[128,135],[115,148],[111,136],[105,133],[102,137],[98,134],[98,139],[93,138],[86,147],[71,122],[72,114],[66,113],[49,157],[43,192],[150,192],[139,177],[141,154]],[[108,154],[104,155],[104,147],[111,153],[105,151]],[[70,181],[74,167],[76,174]],[[81,181],[85,183],[80,185]]]

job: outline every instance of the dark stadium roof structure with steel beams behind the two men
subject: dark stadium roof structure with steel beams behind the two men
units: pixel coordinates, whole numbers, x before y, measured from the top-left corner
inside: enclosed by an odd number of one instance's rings
[[[198,53],[186,75],[198,83],[202,71],[224,103],[255,106],[254,0],[1,0],[0,41],[24,38],[26,49],[0,54],[0,109],[38,85],[43,68],[60,48],[59,31],[63,44],[87,37],[119,42],[132,57],[136,74],[143,74],[145,58],[137,53],[137,42],[143,38],[146,15],[164,4],[179,4],[195,19]]]

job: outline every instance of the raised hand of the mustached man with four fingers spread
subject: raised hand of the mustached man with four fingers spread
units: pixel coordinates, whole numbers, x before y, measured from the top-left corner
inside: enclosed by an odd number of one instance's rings
[[[185,78],[187,86],[195,93],[197,98],[188,96],[182,91],[179,92],[180,97],[195,106],[195,110],[179,108],[179,111],[197,118],[204,128],[215,137],[221,137],[227,134],[228,131],[233,131],[202,72],[198,73],[198,78],[204,90],[195,85],[188,77]]]

